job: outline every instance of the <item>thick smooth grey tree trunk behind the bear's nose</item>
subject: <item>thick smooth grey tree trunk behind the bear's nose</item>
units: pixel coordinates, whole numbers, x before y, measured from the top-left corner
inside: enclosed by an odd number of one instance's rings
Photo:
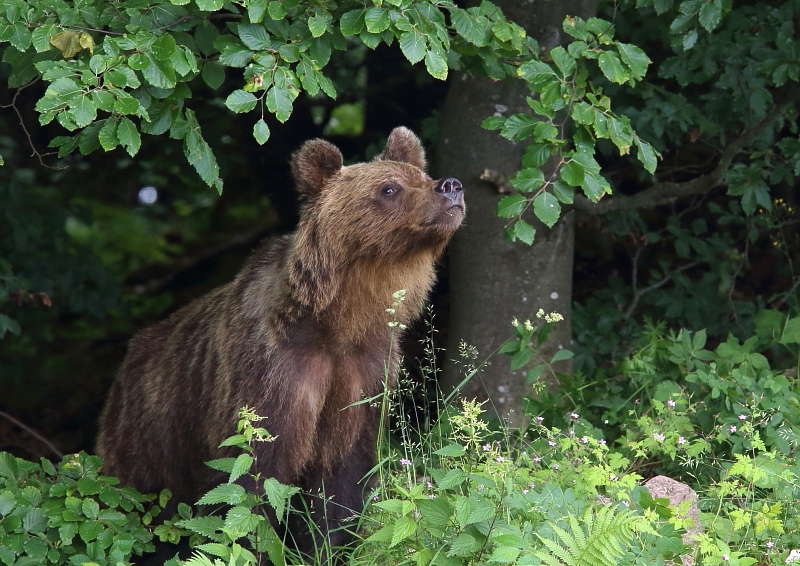
[[[495,2],[506,17],[523,26],[543,49],[561,42],[561,22],[567,15],[589,17],[593,0],[544,1],[500,0]],[[441,387],[449,393],[464,378],[457,360],[460,343],[477,350],[477,363],[485,360],[513,336],[511,320],[535,320],[538,309],[558,312],[557,323],[540,354],[549,361],[571,344],[572,264],[574,217],[567,212],[552,229],[536,221],[531,212],[525,219],[536,228],[532,246],[503,239],[508,219],[495,216],[500,196],[491,184],[479,179],[484,169],[511,177],[520,168],[526,142],[510,142],[496,131],[480,127],[487,116],[530,113],[526,97],[530,91],[519,80],[493,81],[486,77],[456,74],[450,84],[439,120],[437,166],[440,175],[454,176],[465,187],[467,217],[450,244],[450,318]],[[512,219],[513,220],[513,219]],[[537,363],[534,361],[533,363]],[[527,366],[511,372],[509,357],[490,357],[481,371],[461,390],[465,398],[489,400],[486,407],[513,426],[523,420],[522,398],[531,394],[524,380]],[[569,372],[569,362],[559,362],[556,371]],[[550,391],[558,390],[553,373],[543,376]]]

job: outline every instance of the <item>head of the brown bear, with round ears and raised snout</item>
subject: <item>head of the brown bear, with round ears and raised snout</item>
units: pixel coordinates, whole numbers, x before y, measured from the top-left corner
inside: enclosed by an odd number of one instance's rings
[[[330,297],[333,291],[321,289],[338,288],[343,270],[353,265],[378,272],[382,266],[416,262],[430,264],[432,271],[465,207],[461,183],[435,181],[425,166],[422,144],[402,127],[368,163],[343,166],[341,152],[320,139],[293,155],[303,206],[291,269],[294,283],[306,288],[300,293],[303,302],[324,308],[330,299],[321,295]]]

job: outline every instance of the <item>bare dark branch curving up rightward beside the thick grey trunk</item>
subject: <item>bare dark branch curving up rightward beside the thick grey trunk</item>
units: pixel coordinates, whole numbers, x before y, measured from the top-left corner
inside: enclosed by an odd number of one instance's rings
[[[707,193],[721,184],[723,176],[731,166],[736,155],[758,137],[770,124],[777,120],[790,105],[800,100],[800,87],[793,85],[790,88],[782,89],[780,95],[780,97],[776,96],[780,101],[776,103],[772,112],[767,114],[751,128],[746,129],[741,136],[725,147],[717,162],[717,166],[709,173],[682,183],[663,181],[634,195],[617,194],[605,198],[600,202],[592,202],[582,195],[575,195],[575,208],[582,212],[588,212],[589,214],[605,214],[612,210],[652,208],[663,204],[671,204],[682,197]]]

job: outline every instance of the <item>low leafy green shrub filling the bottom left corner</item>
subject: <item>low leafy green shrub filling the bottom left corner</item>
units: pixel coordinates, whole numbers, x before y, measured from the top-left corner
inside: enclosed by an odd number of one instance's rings
[[[118,487],[100,459],[81,452],[56,466],[0,452],[0,563],[129,564],[153,549],[148,525],[168,499]]]

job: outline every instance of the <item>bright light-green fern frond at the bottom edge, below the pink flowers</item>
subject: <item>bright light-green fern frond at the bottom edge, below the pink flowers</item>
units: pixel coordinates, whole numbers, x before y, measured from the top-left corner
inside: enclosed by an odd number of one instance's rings
[[[569,531],[553,526],[557,541],[539,536],[549,552],[536,555],[548,566],[616,566],[634,532],[654,532],[644,517],[610,505],[588,509],[580,518],[569,515],[567,522]]]

